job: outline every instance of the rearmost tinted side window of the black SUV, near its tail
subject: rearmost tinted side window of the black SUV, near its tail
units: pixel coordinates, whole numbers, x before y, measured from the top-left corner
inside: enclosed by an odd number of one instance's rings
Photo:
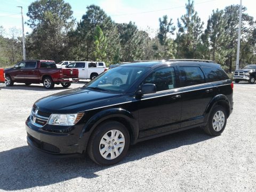
[[[229,79],[225,71],[212,67],[202,67],[207,83]]]

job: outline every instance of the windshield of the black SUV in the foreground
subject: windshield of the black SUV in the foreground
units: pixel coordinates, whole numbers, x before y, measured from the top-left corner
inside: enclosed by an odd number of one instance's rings
[[[105,71],[84,87],[89,90],[125,93],[148,70],[146,67],[115,67]]]

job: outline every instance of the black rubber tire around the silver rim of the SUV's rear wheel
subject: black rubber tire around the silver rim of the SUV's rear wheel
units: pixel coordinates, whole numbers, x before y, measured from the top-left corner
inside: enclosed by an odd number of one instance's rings
[[[220,125],[221,123],[219,124],[219,126],[222,127],[220,130],[218,130],[217,127],[215,127],[215,128],[213,127],[213,123],[215,122],[214,115],[215,114],[218,115],[219,111],[221,111],[225,117],[225,120],[222,123],[223,126]],[[219,115],[220,114],[221,113],[219,113]],[[207,122],[207,125],[204,127],[204,131],[205,131],[205,133],[207,133],[209,135],[218,136],[225,130],[226,124],[227,124],[227,111],[224,107],[217,105],[212,109],[211,114],[208,119],[208,122]]]

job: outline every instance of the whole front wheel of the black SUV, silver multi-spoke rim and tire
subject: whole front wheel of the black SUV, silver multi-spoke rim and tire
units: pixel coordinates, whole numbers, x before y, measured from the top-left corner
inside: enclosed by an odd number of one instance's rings
[[[130,146],[130,136],[126,127],[115,121],[99,125],[92,133],[87,153],[99,165],[113,165],[121,161]]]

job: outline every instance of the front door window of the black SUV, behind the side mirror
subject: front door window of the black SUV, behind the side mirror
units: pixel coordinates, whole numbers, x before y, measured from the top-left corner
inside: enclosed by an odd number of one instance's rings
[[[143,83],[153,83],[156,91],[170,90],[176,87],[173,67],[158,69],[151,73]]]

